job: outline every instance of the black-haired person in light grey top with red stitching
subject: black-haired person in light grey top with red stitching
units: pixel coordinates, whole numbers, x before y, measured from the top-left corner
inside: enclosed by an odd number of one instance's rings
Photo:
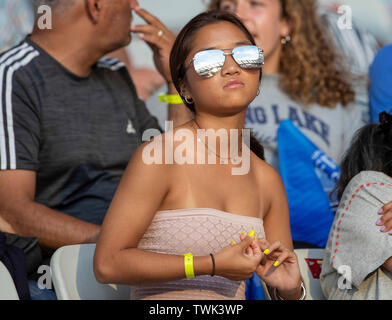
[[[392,205],[391,141],[392,115],[383,112],[380,123],[358,132],[342,162],[320,277],[328,299],[392,299],[391,221],[384,214]]]

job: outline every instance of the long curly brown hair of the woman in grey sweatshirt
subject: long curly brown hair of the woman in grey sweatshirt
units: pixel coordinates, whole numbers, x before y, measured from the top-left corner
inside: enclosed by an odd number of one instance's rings
[[[209,8],[219,9],[222,0],[211,0]],[[279,59],[280,87],[292,100],[305,106],[317,103],[335,108],[354,101],[352,76],[342,63],[317,14],[315,0],[279,0],[282,18],[290,24],[290,43]]]

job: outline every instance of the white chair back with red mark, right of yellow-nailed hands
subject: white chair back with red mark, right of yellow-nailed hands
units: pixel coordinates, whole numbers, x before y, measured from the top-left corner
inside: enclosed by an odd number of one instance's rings
[[[299,269],[306,287],[305,300],[325,300],[318,278],[321,270],[322,260],[324,259],[324,249],[295,249],[298,256]],[[267,286],[264,281],[263,291],[266,300],[271,300]]]

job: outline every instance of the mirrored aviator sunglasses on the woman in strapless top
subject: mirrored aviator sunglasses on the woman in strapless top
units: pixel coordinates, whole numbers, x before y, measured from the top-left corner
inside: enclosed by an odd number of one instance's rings
[[[201,77],[209,78],[223,68],[226,56],[230,55],[242,69],[259,69],[264,64],[263,50],[252,45],[235,47],[231,52],[220,49],[199,51],[189,65],[193,62],[196,73]]]

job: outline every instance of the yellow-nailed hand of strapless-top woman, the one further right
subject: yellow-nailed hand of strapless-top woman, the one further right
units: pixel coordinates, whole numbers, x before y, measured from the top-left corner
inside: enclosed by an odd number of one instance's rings
[[[243,239],[243,235],[240,236]],[[256,273],[269,287],[277,288],[284,299],[299,299],[302,294],[301,273],[297,255],[285,248],[279,241],[272,244],[266,239],[255,243],[263,253]]]

